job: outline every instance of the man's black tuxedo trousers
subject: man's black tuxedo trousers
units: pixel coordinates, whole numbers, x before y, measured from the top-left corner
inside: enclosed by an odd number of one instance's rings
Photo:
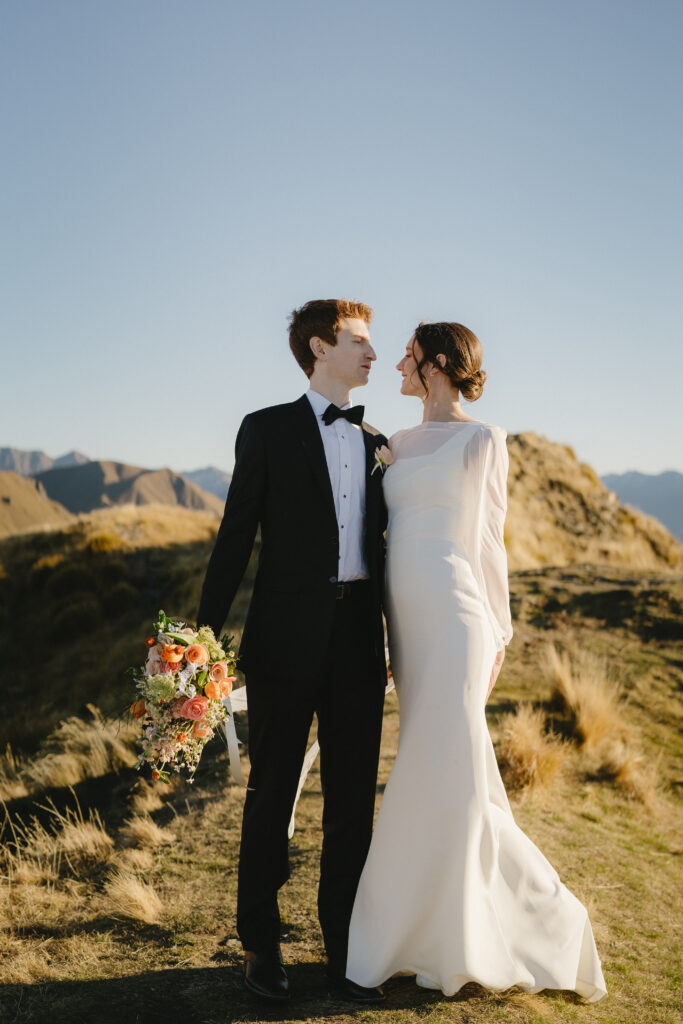
[[[349,590],[336,602],[316,678],[247,675],[251,773],[238,883],[242,944],[268,951],[280,941],[278,890],[290,876],[287,830],[315,714],[324,798],[318,918],[328,956],[342,967],[373,829],[384,705],[370,587]]]

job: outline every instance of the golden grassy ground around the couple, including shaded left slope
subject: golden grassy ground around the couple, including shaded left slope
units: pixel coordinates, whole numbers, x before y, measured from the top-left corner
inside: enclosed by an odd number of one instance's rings
[[[445,999],[401,978],[379,1010],[330,997],[315,767],[282,900],[296,999],[280,1012],[240,984],[244,791],[228,780],[223,746],[210,744],[193,785],[152,786],[131,767],[137,728],[113,718],[159,607],[194,615],[214,530],[202,513],[121,509],[0,544],[0,729],[12,748],[0,763],[0,1020],[677,1022],[683,575],[513,573],[516,632],[488,709],[516,817],[588,904],[609,996],[588,1008],[469,986]],[[234,630],[248,593],[247,582]],[[392,695],[379,794],[397,731]]]

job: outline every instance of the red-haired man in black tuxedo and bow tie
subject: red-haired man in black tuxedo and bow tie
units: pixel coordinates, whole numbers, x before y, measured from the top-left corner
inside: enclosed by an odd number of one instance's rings
[[[370,846],[386,666],[382,626],[386,509],[375,450],[350,391],[376,355],[360,302],[317,299],[294,311],[290,347],[309,390],[245,417],[198,624],[218,636],[257,527],[261,548],[240,663],[251,773],[244,809],[238,932],[245,984],[289,998],[278,890],[290,874],[287,830],[313,714],[324,797],[317,906],[328,978],[346,996],[379,989],[345,977],[348,928]]]

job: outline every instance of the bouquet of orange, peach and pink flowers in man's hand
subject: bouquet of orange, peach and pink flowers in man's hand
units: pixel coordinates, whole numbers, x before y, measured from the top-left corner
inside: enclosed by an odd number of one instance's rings
[[[234,651],[229,637],[219,642],[208,626],[194,630],[164,611],[153,631],[146,663],[128,670],[139,693],[130,714],[144,727],[136,767],[152,765],[152,777],[164,782],[169,769],[184,767],[191,782],[205,743],[228,716],[223,698],[237,678]]]

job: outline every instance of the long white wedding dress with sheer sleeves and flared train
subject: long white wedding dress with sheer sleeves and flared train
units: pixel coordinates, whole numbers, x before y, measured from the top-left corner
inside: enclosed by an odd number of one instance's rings
[[[605,983],[583,904],[515,824],[486,727],[512,636],[505,431],[424,423],[390,440],[387,618],[398,751],[358,886],[347,976],[453,995]]]

